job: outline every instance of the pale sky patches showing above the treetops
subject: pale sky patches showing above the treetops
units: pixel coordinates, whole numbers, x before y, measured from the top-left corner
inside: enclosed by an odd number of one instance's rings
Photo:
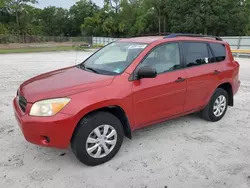
[[[38,4],[35,5],[39,8],[44,8],[47,6],[56,6],[63,8],[70,8],[77,0],[38,0]],[[103,5],[103,0],[93,0],[98,6]]]

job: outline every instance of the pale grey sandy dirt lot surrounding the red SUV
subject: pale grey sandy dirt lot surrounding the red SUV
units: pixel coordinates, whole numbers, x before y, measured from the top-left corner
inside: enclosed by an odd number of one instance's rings
[[[90,53],[78,52],[78,60]],[[88,167],[70,150],[24,140],[12,99],[26,79],[75,64],[75,52],[0,56],[1,188],[250,187],[250,60],[241,64],[235,107],[217,123],[189,115],[133,133],[110,162]]]

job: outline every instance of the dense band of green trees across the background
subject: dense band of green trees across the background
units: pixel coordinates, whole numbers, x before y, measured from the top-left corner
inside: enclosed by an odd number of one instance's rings
[[[102,8],[79,0],[68,10],[35,3],[0,0],[0,35],[250,35],[250,0],[104,0]]]

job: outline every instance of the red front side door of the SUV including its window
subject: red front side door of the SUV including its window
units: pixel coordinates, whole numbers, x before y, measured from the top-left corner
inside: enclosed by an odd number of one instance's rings
[[[139,65],[152,66],[156,78],[134,80],[134,117],[137,128],[183,113],[186,73],[182,70],[178,43],[154,48]]]

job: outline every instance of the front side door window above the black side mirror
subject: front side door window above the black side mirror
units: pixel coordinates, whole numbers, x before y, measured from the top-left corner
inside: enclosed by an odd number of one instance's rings
[[[158,74],[180,69],[178,43],[168,43],[154,48],[140,66],[154,67]]]

